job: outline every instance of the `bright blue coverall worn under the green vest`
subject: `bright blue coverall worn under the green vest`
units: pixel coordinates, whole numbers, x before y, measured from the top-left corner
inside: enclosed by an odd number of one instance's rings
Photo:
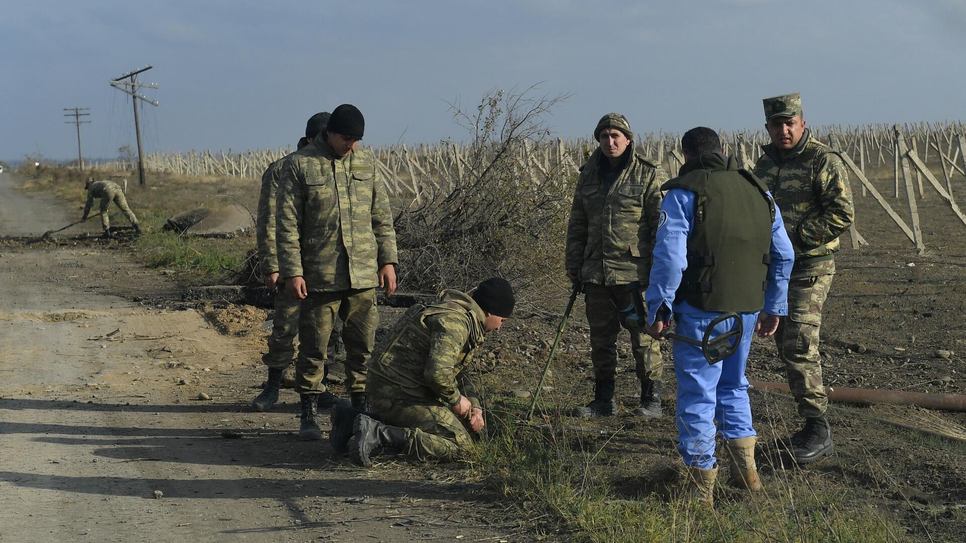
[[[706,311],[682,300],[674,302],[681,276],[688,267],[688,237],[695,223],[696,194],[686,188],[671,188],[661,205],[661,222],[654,245],[654,263],[644,293],[647,323],[653,325],[673,310],[676,333],[700,340],[704,330],[721,313]],[[768,286],[763,310],[772,315],[788,314],[788,277],[794,263],[794,250],[785,233],[781,213],[776,210],[769,250]],[[662,308],[664,308],[662,310]],[[690,467],[708,470],[715,467],[715,421],[726,440],[755,435],[752,408],[748,399],[745,366],[752,346],[758,312],[740,313],[744,334],[737,351],[719,363],[709,364],[701,349],[683,341],[673,345],[674,375],[677,377],[678,451]],[[727,320],[716,327],[712,337],[733,329]]]

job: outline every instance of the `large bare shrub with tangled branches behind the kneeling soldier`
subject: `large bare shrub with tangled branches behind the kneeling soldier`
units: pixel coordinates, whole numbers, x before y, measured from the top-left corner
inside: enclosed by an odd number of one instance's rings
[[[471,141],[462,175],[456,168],[440,174],[397,217],[406,288],[469,289],[500,275],[526,305],[541,282],[559,279],[576,177],[560,164],[534,167],[528,157],[548,143],[544,117],[567,97],[537,97],[535,90],[493,90],[469,110],[450,105]]]

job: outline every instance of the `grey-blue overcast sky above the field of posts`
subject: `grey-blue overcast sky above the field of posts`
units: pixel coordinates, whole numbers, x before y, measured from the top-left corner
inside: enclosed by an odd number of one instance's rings
[[[85,157],[134,142],[108,80],[145,65],[147,150],[281,147],[343,102],[364,142],[466,139],[447,102],[543,82],[549,119],[589,135],[763,124],[800,91],[813,125],[966,118],[966,0],[5,2],[0,158],[76,156],[63,108],[88,106]]]

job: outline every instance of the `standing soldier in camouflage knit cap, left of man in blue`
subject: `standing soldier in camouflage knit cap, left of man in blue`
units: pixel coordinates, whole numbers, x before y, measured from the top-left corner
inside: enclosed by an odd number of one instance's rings
[[[617,368],[619,309],[630,305],[627,285],[647,287],[651,249],[661,214],[661,186],[668,174],[634,150],[634,132],[618,113],[601,118],[594,129],[600,147],[581,168],[567,225],[567,276],[582,283],[594,400],[576,416],[610,415]],[[659,344],[641,331],[631,332],[640,380],[640,407],[634,414],[661,415],[663,360]]]

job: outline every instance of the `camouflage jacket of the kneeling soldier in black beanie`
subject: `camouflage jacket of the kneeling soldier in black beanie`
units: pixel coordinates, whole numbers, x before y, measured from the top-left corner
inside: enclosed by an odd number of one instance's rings
[[[389,339],[383,356],[366,364],[369,375],[388,386],[377,394],[452,406],[460,395],[479,407],[469,364],[483,343],[486,314],[469,295],[447,289],[440,300],[414,315]]]

